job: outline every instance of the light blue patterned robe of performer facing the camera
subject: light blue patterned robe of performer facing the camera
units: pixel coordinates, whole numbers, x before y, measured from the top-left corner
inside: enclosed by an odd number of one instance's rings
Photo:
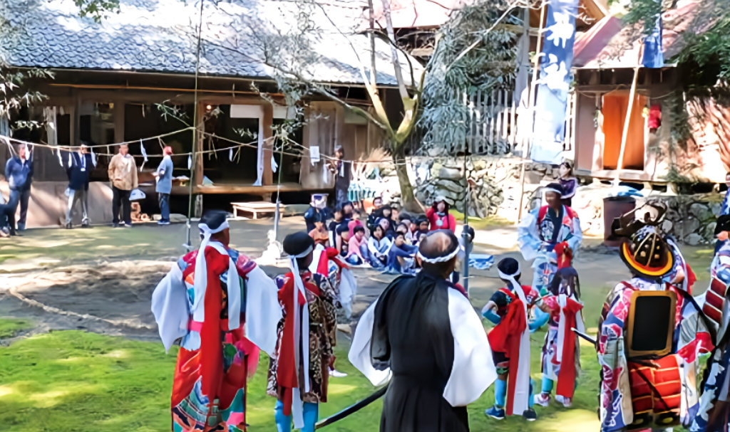
[[[534,259],[532,288],[545,295],[553,275],[558,271],[556,246],[566,243],[575,253],[581,240],[583,231],[580,230],[580,220],[572,208],[563,206],[562,223],[557,227],[548,216],[547,205],[525,216],[518,228],[518,243],[524,259]]]

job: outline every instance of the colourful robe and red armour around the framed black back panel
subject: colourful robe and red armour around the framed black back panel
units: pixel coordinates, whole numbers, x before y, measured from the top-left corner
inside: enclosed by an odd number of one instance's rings
[[[677,294],[672,350],[661,358],[630,361],[624,326],[634,291]],[[699,409],[700,353],[712,349],[711,331],[686,291],[644,278],[622,282],[609,294],[599,322],[601,430],[688,426]]]

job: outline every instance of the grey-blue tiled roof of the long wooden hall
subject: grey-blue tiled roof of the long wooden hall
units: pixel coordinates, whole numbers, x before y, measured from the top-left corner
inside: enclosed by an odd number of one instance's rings
[[[12,44],[3,44],[0,54],[12,66],[195,72],[198,1],[120,0],[120,12],[107,15],[101,23],[79,17],[73,0],[4,1],[3,15],[17,29],[17,37]],[[301,12],[297,7],[286,0],[205,1],[201,74],[272,76],[272,68],[262,61],[261,35],[294,28]],[[361,27],[357,22],[360,7],[357,1],[339,1],[328,6],[326,13],[309,10],[318,29],[310,41],[319,56],[307,68],[310,77],[319,82],[362,82],[355,50],[365,65],[370,62],[369,39],[354,31]],[[388,45],[378,41],[376,51],[379,84],[395,85]],[[406,64],[405,58],[401,62]]]

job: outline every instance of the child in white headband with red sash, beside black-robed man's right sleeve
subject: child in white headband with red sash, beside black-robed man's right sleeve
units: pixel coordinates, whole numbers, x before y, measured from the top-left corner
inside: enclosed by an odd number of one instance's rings
[[[532,409],[534,382],[530,378],[529,313],[539,295],[533,288],[518,282],[520,263],[516,259],[502,259],[497,270],[507,286],[496,291],[482,310],[484,317],[496,324],[488,337],[499,374],[494,386],[496,403],[485,411],[485,415],[498,420],[505,415],[522,415],[533,421],[537,414]]]

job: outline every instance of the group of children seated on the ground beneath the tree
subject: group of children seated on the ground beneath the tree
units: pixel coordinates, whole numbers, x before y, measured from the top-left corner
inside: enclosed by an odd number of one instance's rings
[[[334,211],[318,207],[313,202],[304,213],[315,244],[337,248],[349,264],[369,265],[389,273],[415,272],[418,243],[429,230],[456,229],[456,222],[448,214],[448,204],[443,199],[437,199],[425,215],[411,216],[401,214],[391,205],[383,205],[383,199],[376,197],[366,226],[358,219],[360,214],[353,203],[337,205]],[[331,221],[326,225],[329,219]]]

